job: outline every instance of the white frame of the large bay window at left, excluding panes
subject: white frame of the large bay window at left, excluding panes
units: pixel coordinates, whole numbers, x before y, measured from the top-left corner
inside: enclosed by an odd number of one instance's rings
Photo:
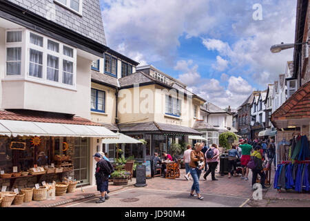
[[[5,80],[16,80],[16,79],[25,79],[27,81],[34,81],[39,84],[47,84],[50,86],[56,86],[59,88],[67,88],[70,90],[76,90],[76,48],[69,46],[67,44],[63,44],[61,41],[57,41],[56,39],[52,39],[50,37],[46,37],[45,35],[41,35],[38,32],[34,32],[28,29],[7,29],[6,30],[6,38],[7,32],[9,31],[23,31],[22,32],[22,42],[19,43],[6,43],[5,48],[15,48],[21,47],[21,75],[6,75]],[[43,37],[43,47],[37,46],[30,43],[30,32],[34,35],[39,35]],[[52,50],[48,50],[48,40],[54,41],[59,44],[59,52],[55,52]],[[72,48],[73,57],[68,57],[63,55],[63,46],[68,48]],[[42,78],[34,77],[29,75],[29,66],[30,66],[30,48],[34,50],[39,50],[43,52],[43,73]],[[7,50],[7,49],[6,49]],[[52,55],[59,58],[59,81],[52,81],[47,79],[48,72],[48,55]],[[6,55],[7,57],[7,51]],[[72,85],[63,83],[63,59],[67,61],[73,62],[73,79]],[[6,61],[6,60],[5,60]],[[5,73],[6,73],[6,65],[5,65]]]

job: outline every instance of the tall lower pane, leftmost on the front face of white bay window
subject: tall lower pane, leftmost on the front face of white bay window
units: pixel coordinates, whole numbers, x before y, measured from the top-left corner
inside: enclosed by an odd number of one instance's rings
[[[42,78],[43,52],[30,49],[29,75]]]

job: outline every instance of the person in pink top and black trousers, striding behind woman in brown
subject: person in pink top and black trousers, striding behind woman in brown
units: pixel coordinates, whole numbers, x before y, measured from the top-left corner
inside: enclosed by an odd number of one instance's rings
[[[211,154],[211,152],[208,154],[209,151],[213,151],[213,155],[211,155],[211,157],[209,157]],[[205,172],[205,175],[203,175],[203,179],[207,180],[207,176],[211,173],[212,180],[217,180],[215,177],[215,170],[216,166],[218,166],[218,163],[220,162],[219,156],[220,151],[218,151],[218,146],[216,144],[212,144],[207,152],[205,152],[205,159],[207,160],[209,169]]]

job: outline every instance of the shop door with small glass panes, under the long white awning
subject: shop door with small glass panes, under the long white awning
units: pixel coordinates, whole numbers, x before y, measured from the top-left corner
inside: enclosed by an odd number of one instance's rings
[[[80,185],[90,184],[90,139],[76,137],[74,139],[74,178]]]

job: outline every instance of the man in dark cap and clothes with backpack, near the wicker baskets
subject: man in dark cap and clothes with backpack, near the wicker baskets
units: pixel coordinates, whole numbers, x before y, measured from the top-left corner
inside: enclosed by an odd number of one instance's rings
[[[95,173],[97,191],[100,191],[101,193],[101,197],[96,203],[101,203],[110,198],[110,196],[107,195],[107,191],[109,186],[109,176],[114,172],[114,168],[110,162],[102,158],[100,153],[96,153],[93,157],[97,162]]]

